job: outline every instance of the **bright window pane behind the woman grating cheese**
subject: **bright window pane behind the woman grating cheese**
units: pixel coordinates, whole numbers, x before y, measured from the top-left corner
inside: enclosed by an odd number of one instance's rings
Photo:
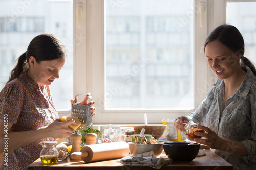
[[[60,8],[61,7],[61,8]],[[14,61],[37,35],[56,35],[68,49],[60,78],[51,85],[58,110],[70,110],[73,98],[73,1],[0,1],[0,90],[9,79]]]

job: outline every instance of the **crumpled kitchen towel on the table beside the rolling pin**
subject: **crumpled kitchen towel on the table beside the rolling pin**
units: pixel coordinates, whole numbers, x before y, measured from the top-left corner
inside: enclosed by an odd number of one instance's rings
[[[170,158],[155,158],[153,151],[126,156],[120,160],[122,164],[127,166],[150,166],[154,169],[160,169],[163,165],[169,163],[170,161]]]

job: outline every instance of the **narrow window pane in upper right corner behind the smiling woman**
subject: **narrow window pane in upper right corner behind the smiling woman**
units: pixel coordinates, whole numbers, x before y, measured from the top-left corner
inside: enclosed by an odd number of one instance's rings
[[[256,65],[256,2],[227,2],[227,23],[241,32],[245,41],[244,56]]]

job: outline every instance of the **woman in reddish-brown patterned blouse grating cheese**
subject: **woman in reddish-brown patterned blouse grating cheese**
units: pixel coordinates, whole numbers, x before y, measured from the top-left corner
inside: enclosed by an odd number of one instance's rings
[[[73,133],[68,126],[77,123],[72,119],[60,122],[49,87],[59,78],[66,56],[56,36],[41,34],[17,59],[0,92],[0,152],[8,155],[8,159],[3,156],[0,169],[27,169],[40,157],[40,142]]]

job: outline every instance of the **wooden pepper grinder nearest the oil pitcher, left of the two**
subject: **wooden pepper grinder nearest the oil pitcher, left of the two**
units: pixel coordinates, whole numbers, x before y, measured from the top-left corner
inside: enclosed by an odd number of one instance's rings
[[[80,152],[80,143],[82,136],[75,131],[72,135],[70,135],[70,141],[72,144],[72,148],[70,151],[70,160],[82,160],[81,158],[74,158],[71,154],[73,152]]]

